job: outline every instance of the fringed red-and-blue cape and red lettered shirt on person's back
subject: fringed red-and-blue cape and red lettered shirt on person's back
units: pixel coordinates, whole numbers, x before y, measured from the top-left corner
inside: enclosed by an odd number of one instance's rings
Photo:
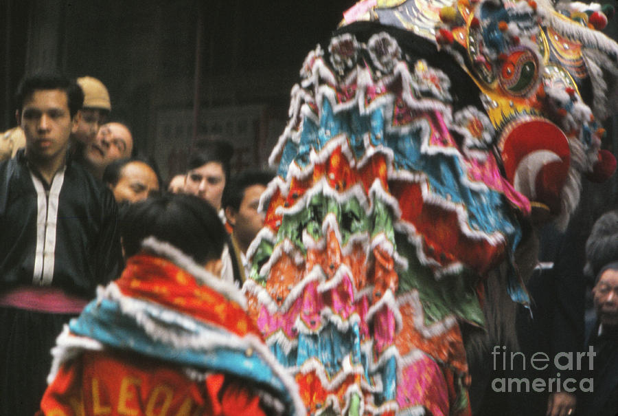
[[[303,414],[240,290],[169,243],[143,248],[58,337],[38,415]]]

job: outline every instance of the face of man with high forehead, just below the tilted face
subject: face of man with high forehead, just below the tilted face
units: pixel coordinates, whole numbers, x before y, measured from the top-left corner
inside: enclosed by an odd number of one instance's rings
[[[157,174],[144,162],[129,162],[120,171],[120,178],[112,188],[117,202],[131,203],[146,199],[150,192],[159,190]]]

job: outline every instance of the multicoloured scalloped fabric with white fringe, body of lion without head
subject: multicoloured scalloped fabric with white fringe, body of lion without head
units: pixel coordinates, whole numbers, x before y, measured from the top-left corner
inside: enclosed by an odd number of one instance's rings
[[[529,201],[493,127],[389,34],[307,57],[249,249],[249,311],[315,415],[469,415],[460,322]],[[514,279],[512,296],[527,296]]]

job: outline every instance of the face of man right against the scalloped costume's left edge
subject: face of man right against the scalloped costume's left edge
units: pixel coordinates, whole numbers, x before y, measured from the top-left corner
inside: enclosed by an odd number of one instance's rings
[[[266,190],[266,186],[255,184],[244,189],[242,201],[238,212],[230,208],[227,213],[228,219],[234,228],[234,237],[240,245],[248,247],[255,236],[264,226],[264,214],[258,212],[260,197]]]

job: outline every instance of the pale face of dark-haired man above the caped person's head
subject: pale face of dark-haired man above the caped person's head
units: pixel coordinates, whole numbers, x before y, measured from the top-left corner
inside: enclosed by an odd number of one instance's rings
[[[208,162],[190,170],[185,178],[185,193],[205,199],[216,210],[221,209],[225,188],[225,172],[219,162]]]

